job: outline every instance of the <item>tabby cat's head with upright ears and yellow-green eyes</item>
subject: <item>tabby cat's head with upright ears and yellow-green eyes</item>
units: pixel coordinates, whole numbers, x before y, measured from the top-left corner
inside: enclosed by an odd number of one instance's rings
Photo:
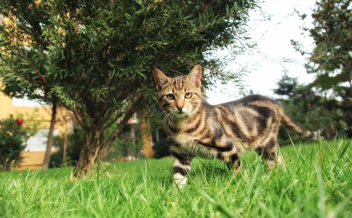
[[[160,70],[154,69],[158,99],[162,109],[172,112],[176,117],[192,116],[201,102],[201,66],[195,65],[186,77],[168,78]]]

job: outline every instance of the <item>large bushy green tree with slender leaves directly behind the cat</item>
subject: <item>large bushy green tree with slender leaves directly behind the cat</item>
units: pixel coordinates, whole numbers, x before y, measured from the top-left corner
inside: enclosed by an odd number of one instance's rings
[[[176,76],[200,63],[206,85],[238,81],[211,54],[246,49],[242,33],[255,7],[256,0],[2,1],[9,23],[0,29],[0,74],[72,110],[84,131],[75,174],[84,176],[134,112],[155,107],[153,68]]]

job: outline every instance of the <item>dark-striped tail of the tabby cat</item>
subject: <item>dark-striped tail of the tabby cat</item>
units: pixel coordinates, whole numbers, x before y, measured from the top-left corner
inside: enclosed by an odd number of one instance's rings
[[[318,140],[319,136],[323,132],[323,129],[318,129],[317,131],[309,131],[305,129],[303,126],[299,125],[296,121],[294,121],[291,117],[289,117],[286,113],[283,113],[281,116],[281,123],[286,126],[291,131],[296,132],[300,136],[304,138]]]

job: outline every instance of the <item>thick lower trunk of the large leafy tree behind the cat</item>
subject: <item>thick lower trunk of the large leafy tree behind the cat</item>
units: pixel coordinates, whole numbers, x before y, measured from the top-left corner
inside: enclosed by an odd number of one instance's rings
[[[92,169],[101,146],[100,133],[102,131],[101,128],[99,130],[94,129],[91,131],[91,134],[87,132],[84,133],[81,153],[79,155],[77,166],[74,169],[74,176],[86,177],[88,172]]]

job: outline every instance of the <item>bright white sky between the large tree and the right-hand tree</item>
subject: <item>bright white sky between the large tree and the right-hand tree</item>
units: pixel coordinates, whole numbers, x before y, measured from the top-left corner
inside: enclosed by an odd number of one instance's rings
[[[239,66],[246,66],[247,73],[242,79],[246,91],[266,96],[275,96],[273,89],[277,88],[277,82],[282,78],[282,70],[286,68],[290,77],[297,77],[299,83],[313,81],[314,74],[307,74],[303,66],[307,60],[296,52],[290,40],[298,40],[304,49],[311,51],[314,47],[313,39],[307,34],[301,34],[301,26],[312,26],[312,9],[315,0],[266,0],[261,4],[262,11],[271,17],[271,20],[261,21],[263,16],[260,11],[250,13],[248,23],[249,32],[254,42],[257,42],[257,51],[244,54],[236,58],[236,63],[230,63],[229,68],[237,70]],[[294,12],[294,8],[300,14],[308,15],[302,21]],[[219,54],[224,55],[224,54]],[[282,58],[294,60],[294,62],[282,62]],[[232,88],[231,88],[232,87]],[[221,93],[222,91],[223,93]],[[240,98],[239,90],[234,85],[218,85],[216,91],[207,92],[208,102],[219,104]]]

